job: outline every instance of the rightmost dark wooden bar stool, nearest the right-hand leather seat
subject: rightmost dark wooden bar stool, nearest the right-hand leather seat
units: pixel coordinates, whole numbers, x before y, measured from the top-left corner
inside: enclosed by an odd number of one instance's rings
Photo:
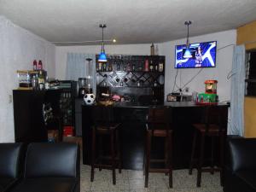
[[[222,110],[219,106],[204,106],[202,107],[202,123],[201,124],[194,124],[195,133],[194,139],[192,143],[192,153],[191,153],[191,160],[189,165],[189,175],[192,174],[193,168],[196,166],[197,168],[197,181],[196,186],[201,187],[201,172],[211,172],[212,174],[216,171],[220,172],[220,183],[223,186],[223,171],[224,171],[224,140],[226,137],[226,125],[224,125],[225,117],[224,110]],[[201,136],[200,140],[200,151],[199,151],[199,158],[195,159],[195,147],[197,143],[198,135]],[[211,167],[210,168],[202,168],[204,163],[204,156],[205,156],[205,142],[206,137],[211,138]],[[214,167],[214,141],[218,139],[219,144],[219,162],[218,166]]]

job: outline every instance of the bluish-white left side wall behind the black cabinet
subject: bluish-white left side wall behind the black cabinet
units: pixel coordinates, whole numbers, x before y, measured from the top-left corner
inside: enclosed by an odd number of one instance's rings
[[[0,143],[15,139],[10,99],[18,87],[16,70],[32,69],[34,59],[42,60],[49,77],[55,78],[55,45],[0,15]]]

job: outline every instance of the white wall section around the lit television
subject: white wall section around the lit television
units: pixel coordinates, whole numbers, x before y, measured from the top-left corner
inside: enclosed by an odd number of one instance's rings
[[[203,68],[201,73],[200,69],[174,69],[175,63],[175,45],[185,44],[186,39],[178,39],[175,41],[166,42],[160,44],[160,54],[166,55],[166,81],[165,81],[165,95],[172,92],[175,75],[177,73],[177,85],[183,86],[189,82],[189,79],[193,78],[196,73],[199,73],[195,79],[192,80],[186,87],[189,87],[189,94],[193,91],[204,92],[205,80],[216,79],[218,80],[218,96],[219,101],[224,102],[230,100],[230,79],[227,79],[228,73],[230,73],[232,67],[232,57],[234,46],[229,46],[224,49],[224,46],[230,44],[236,44],[236,30],[230,30],[225,32],[215,32],[207,35],[201,35],[193,38],[189,38],[189,42],[199,43],[207,41],[217,41],[217,64],[214,68]],[[181,79],[181,81],[180,81]],[[175,88],[177,90],[177,88]],[[186,94],[186,93],[185,93]]]

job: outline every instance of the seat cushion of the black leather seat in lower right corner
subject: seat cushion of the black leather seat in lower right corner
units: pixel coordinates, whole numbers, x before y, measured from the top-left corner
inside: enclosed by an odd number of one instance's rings
[[[256,191],[256,170],[239,171],[235,175]]]

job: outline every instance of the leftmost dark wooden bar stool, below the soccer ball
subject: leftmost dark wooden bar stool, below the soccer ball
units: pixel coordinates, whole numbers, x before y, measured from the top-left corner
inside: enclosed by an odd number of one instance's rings
[[[94,181],[95,168],[99,168],[100,171],[102,171],[102,168],[105,168],[112,170],[113,184],[115,184],[115,169],[117,165],[119,167],[119,173],[121,172],[121,153],[119,146],[120,124],[114,121],[112,107],[96,107],[93,113],[95,122],[92,126],[90,181]],[[104,138],[110,140],[110,153],[106,149],[106,144],[102,143]],[[106,154],[107,152],[108,154]]]

